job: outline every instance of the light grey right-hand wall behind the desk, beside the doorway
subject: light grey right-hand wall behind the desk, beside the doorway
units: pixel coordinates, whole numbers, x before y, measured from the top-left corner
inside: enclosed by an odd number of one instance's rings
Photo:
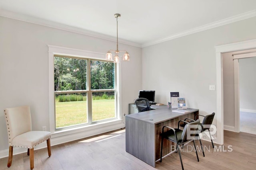
[[[216,85],[214,46],[255,38],[256,17],[145,47],[142,88],[156,90],[160,103],[178,91],[200,114],[216,112],[216,91],[209,91],[209,85]]]

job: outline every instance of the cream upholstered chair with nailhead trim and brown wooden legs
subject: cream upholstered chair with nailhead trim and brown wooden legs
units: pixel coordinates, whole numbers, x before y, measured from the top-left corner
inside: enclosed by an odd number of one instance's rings
[[[28,148],[30,169],[34,168],[34,147],[36,145],[47,141],[48,156],[51,156],[51,133],[47,131],[32,131],[29,106],[6,108],[4,109],[4,117],[9,139],[8,167],[12,165],[13,147]]]

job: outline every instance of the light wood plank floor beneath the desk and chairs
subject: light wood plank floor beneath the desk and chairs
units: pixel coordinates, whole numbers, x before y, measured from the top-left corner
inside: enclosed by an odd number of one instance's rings
[[[202,141],[209,149],[210,142]],[[200,146],[199,141],[196,142]],[[184,147],[182,160],[185,170],[255,170],[256,135],[224,131],[224,152],[210,147],[205,157],[199,152],[196,160],[193,143]],[[231,145],[232,152],[228,152]],[[188,146],[188,147],[187,147]],[[219,149],[219,145],[216,145]],[[222,147],[221,147],[222,148]],[[222,148],[223,149],[223,148]],[[226,151],[226,152],[225,152]],[[52,146],[52,156],[47,148],[34,151],[34,170],[180,170],[178,153],[156,162],[156,168],[144,163],[125,151],[125,130],[112,131],[61,145]],[[29,170],[29,156],[26,153],[13,156],[12,166],[7,168],[8,158],[0,159],[0,170]]]

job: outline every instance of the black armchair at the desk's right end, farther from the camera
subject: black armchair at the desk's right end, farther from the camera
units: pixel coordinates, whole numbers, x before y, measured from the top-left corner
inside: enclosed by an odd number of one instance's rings
[[[196,117],[198,117],[198,118],[199,118],[199,116],[204,117],[202,123],[199,123],[198,131],[199,131],[200,133],[202,133],[202,132],[208,130],[208,131],[209,131],[209,134],[210,134],[210,139],[211,139],[211,141],[212,141],[212,135],[211,135],[209,129],[210,129],[211,125],[212,125],[212,121],[213,121],[214,115],[215,115],[214,112],[213,112],[212,114],[206,115],[206,116],[204,116],[204,115],[195,115],[195,119],[194,119],[194,120],[193,120],[193,119],[188,119],[188,118],[186,118],[184,121],[186,121],[187,119],[190,120],[190,121],[195,121],[195,120],[196,120]],[[200,140],[200,139],[199,139],[199,140]],[[201,147],[202,147],[201,140],[200,140],[200,144],[201,144]],[[212,147],[214,148],[213,142],[212,142]],[[204,154],[204,150],[203,150],[203,154]]]

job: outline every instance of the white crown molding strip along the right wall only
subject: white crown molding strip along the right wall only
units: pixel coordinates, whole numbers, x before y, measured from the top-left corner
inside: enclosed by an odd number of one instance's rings
[[[212,29],[212,28],[215,28],[215,27],[219,27],[219,26],[222,26],[222,25],[233,23],[233,22],[236,22],[236,21],[245,20],[247,18],[251,18],[251,17],[254,17],[254,16],[256,16],[256,10],[245,12],[243,14],[232,16],[232,17],[229,17],[229,18],[226,18],[226,19],[223,19],[223,20],[219,20],[219,21],[216,21],[216,22],[212,22],[212,23],[209,23],[209,24],[206,24],[206,25],[202,25],[200,27],[195,27],[193,29],[188,29],[186,31],[176,33],[176,34],[171,35],[171,36],[166,37],[166,38],[150,41],[148,43],[143,43],[142,48],[143,47],[148,47],[150,45],[162,43],[164,41],[169,41],[169,40],[172,40],[172,39],[183,37],[185,35],[190,35],[190,34],[197,33],[197,32],[200,32],[200,31],[204,31],[204,30],[207,30],[207,29]]]

